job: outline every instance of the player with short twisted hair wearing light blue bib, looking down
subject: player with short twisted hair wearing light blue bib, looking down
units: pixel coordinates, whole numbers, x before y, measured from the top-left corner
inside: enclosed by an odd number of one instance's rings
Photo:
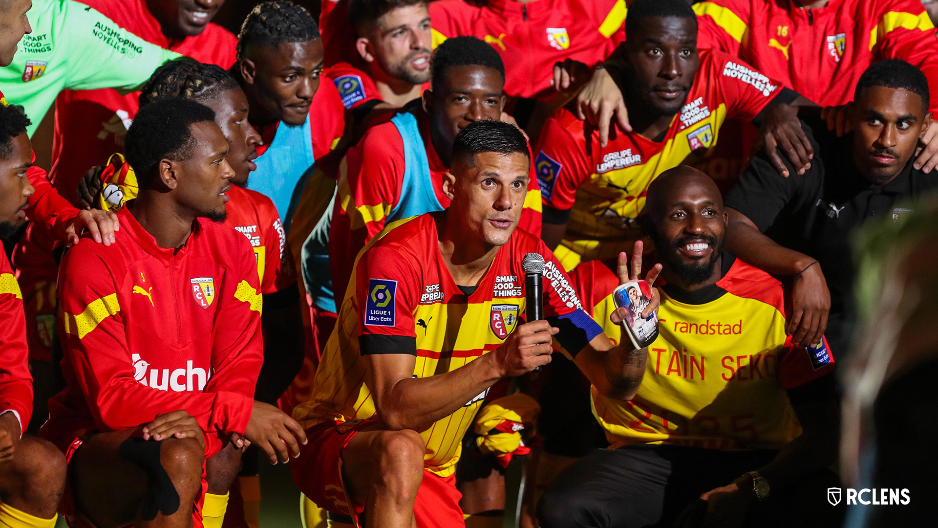
[[[324,158],[338,161],[340,152],[326,155],[339,146],[346,110],[336,86],[320,84],[323,41],[306,9],[286,0],[259,4],[241,26],[237,49],[233,72],[250,102],[250,124],[262,138],[248,188],[273,200],[291,253],[299,261],[303,241],[329,209],[335,192],[334,172],[325,170],[331,163]],[[324,274],[327,278],[328,272]],[[301,372],[298,379],[311,380],[319,350],[314,336],[331,333],[336,306],[327,280],[315,290],[306,290],[302,282],[300,286],[311,313],[303,311],[306,374]],[[295,384],[288,390],[287,403],[308,394],[309,387]]]

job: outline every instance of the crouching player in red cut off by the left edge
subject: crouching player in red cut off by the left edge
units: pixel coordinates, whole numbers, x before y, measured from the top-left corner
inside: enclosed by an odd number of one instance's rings
[[[35,191],[26,171],[33,149],[22,106],[0,103],[0,236],[13,233]],[[3,247],[0,242],[0,248]],[[33,412],[23,295],[0,255],[0,527],[53,528],[65,486],[65,458],[53,444],[22,436]]]

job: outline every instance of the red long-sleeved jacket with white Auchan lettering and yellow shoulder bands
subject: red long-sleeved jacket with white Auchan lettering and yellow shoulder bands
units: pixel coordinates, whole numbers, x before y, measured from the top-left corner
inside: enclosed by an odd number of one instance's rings
[[[262,296],[250,243],[199,219],[162,248],[128,208],[110,246],[79,241],[59,272],[59,335],[68,386],[41,434],[57,445],[91,429],[138,427],[185,409],[210,457],[243,434],[264,361]]]

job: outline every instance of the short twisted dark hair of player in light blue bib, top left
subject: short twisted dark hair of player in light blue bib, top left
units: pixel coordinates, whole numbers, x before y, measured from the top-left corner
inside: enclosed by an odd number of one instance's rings
[[[310,11],[289,0],[264,2],[255,6],[241,24],[237,36],[237,59],[254,44],[277,47],[280,44],[319,39],[319,26]]]

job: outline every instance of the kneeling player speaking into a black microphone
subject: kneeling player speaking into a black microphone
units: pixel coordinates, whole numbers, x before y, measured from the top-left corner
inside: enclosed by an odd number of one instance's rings
[[[316,504],[367,527],[464,526],[462,437],[492,384],[550,363],[552,342],[600,394],[638,389],[645,350],[613,347],[547,246],[516,229],[530,163],[513,125],[469,124],[449,208],[388,225],[358,257],[312,399],[294,410],[311,441],[292,470]],[[527,253],[546,262],[548,318],[522,323]]]

